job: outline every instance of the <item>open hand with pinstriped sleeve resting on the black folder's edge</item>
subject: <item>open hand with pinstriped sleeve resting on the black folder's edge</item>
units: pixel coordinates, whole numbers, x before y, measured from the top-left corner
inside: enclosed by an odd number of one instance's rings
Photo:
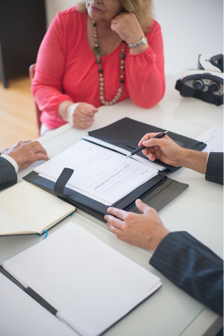
[[[141,200],[136,200],[135,204],[143,214],[108,208],[107,212],[117,218],[105,215],[107,226],[122,241],[155,251],[169,231],[164,227],[155,209],[144,204]]]

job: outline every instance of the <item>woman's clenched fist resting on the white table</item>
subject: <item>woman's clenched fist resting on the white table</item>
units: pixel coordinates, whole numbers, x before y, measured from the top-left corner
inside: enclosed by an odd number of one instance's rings
[[[97,111],[98,109],[94,105],[87,103],[63,102],[59,106],[61,118],[78,130],[85,130],[93,125]]]

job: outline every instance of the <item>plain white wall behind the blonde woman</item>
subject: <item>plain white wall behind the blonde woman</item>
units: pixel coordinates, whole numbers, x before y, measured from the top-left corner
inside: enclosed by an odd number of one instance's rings
[[[47,24],[75,0],[45,0]],[[154,0],[163,32],[165,73],[197,66],[201,53],[224,54],[224,0]]]

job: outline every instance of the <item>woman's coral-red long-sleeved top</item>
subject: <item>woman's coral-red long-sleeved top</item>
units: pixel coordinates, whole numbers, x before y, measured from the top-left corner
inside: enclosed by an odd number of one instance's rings
[[[131,55],[126,45],[124,87],[117,102],[130,97],[138,106],[150,108],[163,97],[163,38],[155,20],[149,29],[147,50]],[[100,57],[107,102],[114,98],[119,88],[121,45],[110,55]],[[102,104],[98,64],[87,39],[87,12],[81,13],[74,6],[56,15],[40,45],[31,90],[43,111],[41,123],[50,129],[66,123],[59,116],[59,105],[65,100],[96,107]]]

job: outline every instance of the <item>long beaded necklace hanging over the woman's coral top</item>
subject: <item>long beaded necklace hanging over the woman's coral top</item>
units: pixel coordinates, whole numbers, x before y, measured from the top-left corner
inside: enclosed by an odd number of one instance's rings
[[[101,66],[101,59],[100,59],[100,46],[98,45],[98,38],[97,38],[97,33],[96,33],[96,20],[93,20],[93,25],[94,25],[94,41],[95,41],[95,47],[94,47],[94,53],[96,56],[96,63],[98,64],[98,73],[100,75],[100,101],[104,105],[113,105],[117,102],[119,97],[121,96],[121,92],[123,90],[123,84],[124,84],[124,69],[125,69],[125,41],[122,41],[122,48],[121,48],[121,76],[120,76],[120,86],[117,91],[117,94],[114,96],[114,99],[112,99],[110,102],[105,101],[104,97],[104,78],[103,78],[103,69]]]

